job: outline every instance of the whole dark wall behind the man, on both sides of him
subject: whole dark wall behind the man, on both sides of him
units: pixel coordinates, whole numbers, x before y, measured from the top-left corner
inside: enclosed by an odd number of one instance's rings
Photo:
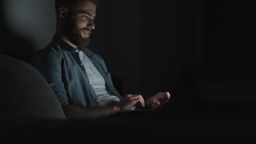
[[[27,60],[51,40],[53,4],[3,1],[3,27],[9,38],[21,38],[12,47],[27,42],[9,55]],[[208,99],[255,100],[254,17],[249,1],[101,0],[88,47],[105,59],[123,95],[197,91]]]

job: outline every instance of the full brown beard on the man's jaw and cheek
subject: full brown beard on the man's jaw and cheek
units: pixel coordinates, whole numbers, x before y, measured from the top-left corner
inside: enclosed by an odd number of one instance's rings
[[[87,28],[78,28],[75,21],[72,21],[71,19],[68,19],[63,27],[64,35],[71,43],[73,43],[77,47],[87,46],[90,43],[90,36],[88,38],[82,36],[81,33],[83,32],[83,30],[89,31],[89,29]]]

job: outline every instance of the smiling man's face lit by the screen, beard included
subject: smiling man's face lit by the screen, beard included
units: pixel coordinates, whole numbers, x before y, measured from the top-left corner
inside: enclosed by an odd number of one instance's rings
[[[88,0],[77,3],[72,10],[67,12],[62,29],[64,35],[78,47],[88,45],[91,30],[95,28],[93,22],[95,16],[96,5],[94,3]]]

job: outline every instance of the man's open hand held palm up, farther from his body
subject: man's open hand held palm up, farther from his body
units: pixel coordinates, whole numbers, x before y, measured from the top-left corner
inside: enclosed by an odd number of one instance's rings
[[[168,92],[156,93],[152,97],[146,99],[145,103],[148,107],[157,108],[168,102],[171,95]]]

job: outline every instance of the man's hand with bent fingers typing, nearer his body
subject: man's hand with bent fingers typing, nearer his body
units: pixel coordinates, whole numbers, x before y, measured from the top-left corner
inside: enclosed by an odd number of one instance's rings
[[[139,95],[125,95],[117,104],[116,106],[120,108],[120,111],[123,110],[129,110],[133,106],[138,107],[145,107],[144,99],[143,97]]]

